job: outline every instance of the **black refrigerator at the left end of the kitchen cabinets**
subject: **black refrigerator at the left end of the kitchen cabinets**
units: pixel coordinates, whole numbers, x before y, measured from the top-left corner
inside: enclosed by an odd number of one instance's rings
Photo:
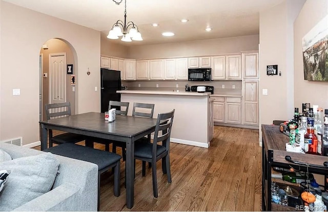
[[[100,69],[100,110],[108,111],[109,101],[121,101],[121,72],[106,68]]]

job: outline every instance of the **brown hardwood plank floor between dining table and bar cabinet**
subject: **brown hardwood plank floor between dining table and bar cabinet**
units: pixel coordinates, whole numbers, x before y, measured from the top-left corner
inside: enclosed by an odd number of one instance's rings
[[[261,147],[258,130],[214,127],[209,148],[170,144],[172,183],[157,162],[158,198],[153,197],[151,168],[141,176],[136,162],[133,211],[260,211]],[[95,148],[105,149],[102,144]],[[120,153],[120,152],[119,152]],[[126,207],[124,162],[121,195],[113,194],[113,175],[100,181],[100,210],[129,211]]]

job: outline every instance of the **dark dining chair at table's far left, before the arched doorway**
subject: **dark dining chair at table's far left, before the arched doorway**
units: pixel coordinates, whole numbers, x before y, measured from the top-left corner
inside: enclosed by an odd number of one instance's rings
[[[60,117],[67,117],[71,115],[71,103],[54,103],[46,104],[46,115],[47,120],[56,119]],[[75,134],[71,132],[65,132],[63,134],[58,134],[57,136],[52,136],[52,129],[49,129],[49,147],[52,144],[64,144],[64,143],[77,143],[80,141],[85,141],[86,137],[81,134]]]

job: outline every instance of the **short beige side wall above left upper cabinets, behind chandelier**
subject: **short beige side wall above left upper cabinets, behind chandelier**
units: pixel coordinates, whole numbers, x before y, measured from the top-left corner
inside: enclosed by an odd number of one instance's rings
[[[115,56],[125,59],[129,58],[128,47],[111,42],[111,40],[107,38],[107,34],[100,33],[100,43],[101,55]]]

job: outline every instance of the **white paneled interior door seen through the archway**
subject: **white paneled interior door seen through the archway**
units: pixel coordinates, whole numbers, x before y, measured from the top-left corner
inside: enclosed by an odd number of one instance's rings
[[[49,54],[49,103],[66,102],[66,53]]]

